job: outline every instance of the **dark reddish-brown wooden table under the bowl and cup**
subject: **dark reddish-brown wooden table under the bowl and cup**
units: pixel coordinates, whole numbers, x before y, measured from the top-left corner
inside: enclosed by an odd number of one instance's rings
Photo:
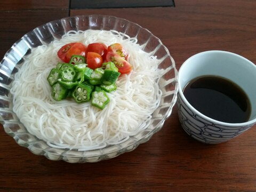
[[[68,0],[6,0],[1,5],[0,58],[43,23],[107,14],[149,29],[170,50],[177,69],[206,50],[234,52],[256,63],[256,2],[251,0],[177,0],[175,7],[86,10],[69,10]],[[182,130],[177,107],[148,142],[99,163],[69,164],[34,155],[2,126],[0,142],[0,191],[256,191],[256,127],[228,142],[204,145]]]

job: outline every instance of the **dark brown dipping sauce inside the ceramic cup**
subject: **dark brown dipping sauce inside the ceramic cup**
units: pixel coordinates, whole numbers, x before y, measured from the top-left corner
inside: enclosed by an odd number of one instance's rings
[[[200,113],[217,121],[243,123],[249,120],[251,104],[237,84],[218,76],[201,76],[190,81],[185,98]]]

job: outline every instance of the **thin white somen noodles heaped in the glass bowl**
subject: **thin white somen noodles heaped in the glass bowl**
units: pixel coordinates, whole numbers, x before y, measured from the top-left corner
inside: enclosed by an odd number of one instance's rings
[[[60,62],[57,51],[70,42],[121,43],[129,53],[133,71],[118,78],[117,90],[107,93],[110,102],[103,110],[90,102],[51,97],[47,76]],[[158,62],[141,50],[136,38],[117,31],[69,31],[59,41],[32,49],[25,58],[12,84],[13,111],[31,134],[52,147],[92,150],[123,142],[145,129],[140,125],[159,105]]]

